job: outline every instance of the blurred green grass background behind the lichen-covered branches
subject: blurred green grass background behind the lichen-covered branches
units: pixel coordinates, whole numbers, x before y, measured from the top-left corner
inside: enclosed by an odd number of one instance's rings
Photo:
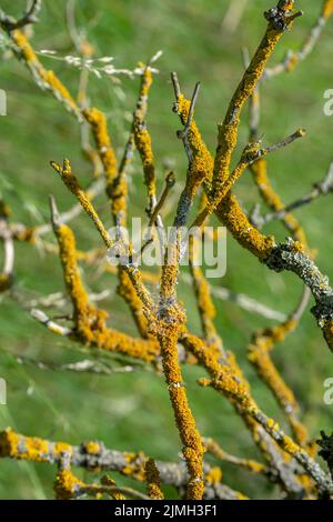
[[[1,1],[1,8],[18,14],[24,2]],[[176,140],[179,121],[172,113],[173,91],[170,71],[179,73],[181,86],[189,96],[195,81],[201,81],[196,104],[196,121],[211,150],[216,139],[216,122],[223,119],[231,93],[242,74],[242,48],[253,52],[264,31],[265,9],[272,0],[248,1],[238,28],[232,32],[223,26],[231,0],[82,0],[77,2],[77,22],[85,28],[97,57],[112,56],[119,68],[133,69],[138,60],[147,60],[163,50],[157,63],[151,90],[149,127],[159,173],[163,185],[164,164],[173,162],[178,180],[184,177],[185,155]],[[44,0],[40,23],[33,29],[37,50],[56,50],[59,56],[74,54],[65,22],[65,0]],[[285,34],[273,62],[281,60],[287,49],[297,49],[319,14],[321,2],[299,1],[304,17]],[[14,10],[14,11],[13,11]],[[262,123],[264,143],[273,143],[299,127],[307,135],[269,158],[274,187],[285,202],[307,192],[321,180],[333,158],[333,119],[323,114],[323,93],[333,88],[332,79],[333,20],[311,57],[293,73],[283,74],[264,84],[262,90]],[[42,58],[46,67],[54,69],[70,91],[78,91],[79,71],[62,61]],[[48,194],[56,195],[60,210],[68,209],[73,198],[49,167],[50,160],[71,159],[84,185],[91,180],[91,165],[80,150],[77,121],[57,101],[41,92],[23,64],[16,59],[1,61],[0,88],[8,94],[8,116],[0,118],[0,191],[12,209],[12,220],[28,224],[48,222]],[[108,114],[109,128],[118,155],[130,128],[130,114],[135,104],[139,78],[121,78],[117,86],[110,78],[90,78],[91,103]],[[243,119],[240,143],[246,142],[246,119]],[[235,154],[236,157],[236,154]],[[143,205],[141,167],[135,155],[130,170],[130,209],[140,215]],[[256,189],[250,175],[243,175],[236,193],[246,208],[258,201]],[[101,195],[98,208],[107,224],[112,224]],[[310,244],[319,249],[317,262],[332,274],[333,244],[332,201],[330,197],[297,211]],[[73,224],[79,248],[100,247],[91,222],[80,217]],[[281,225],[268,229],[280,240],[285,231]],[[48,238],[53,241],[52,235]],[[1,253],[2,255],[2,253]],[[1,261],[1,260],[0,260]],[[112,290],[102,305],[110,312],[110,324],[135,333],[125,305],[115,294],[117,280],[99,273],[97,267],[87,270],[84,281],[90,291]],[[291,274],[276,274],[261,265],[250,253],[228,238],[228,272],[212,284],[228,287],[284,313],[295,307],[301,284]],[[59,260],[38,249],[17,244],[16,295],[33,299],[63,291]],[[199,319],[190,287],[181,283],[179,293],[188,307],[188,323],[200,333]],[[24,298],[24,299],[26,299]],[[28,298],[27,298],[28,299]],[[282,425],[275,401],[258,381],[246,362],[246,345],[254,329],[273,324],[264,318],[240,309],[235,303],[216,301],[216,327],[225,345],[236,353],[253,387],[254,396],[270,415]],[[42,308],[42,307],[41,307]],[[70,310],[54,311],[54,314]],[[52,311],[50,312],[52,313]],[[78,444],[88,439],[100,439],[109,448],[128,451],[142,450],[155,459],[174,460],[180,451],[178,432],[167,388],[161,377],[144,369],[130,374],[99,377],[71,372],[42,371],[33,365],[19,364],[17,355],[62,363],[82,359],[102,359],[113,364],[112,357],[89,352],[73,342],[53,335],[36,323],[22,304],[12,295],[0,302],[0,377],[8,383],[8,405],[0,406],[0,428],[11,425],[21,433],[38,434],[52,440]],[[14,357],[16,355],[16,357]],[[332,430],[333,406],[323,402],[323,381],[333,377],[333,358],[321,332],[307,311],[294,334],[279,345],[274,361],[291,384],[302,406],[310,433],[316,438],[321,429]],[[204,375],[198,368],[184,371],[191,406],[199,429],[205,436],[214,436],[224,449],[241,456],[256,456],[256,450],[229,403],[223,398],[196,385]],[[26,462],[0,461],[1,499],[46,499],[52,496],[54,466]],[[83,472],[81,476],[87,476]],[[249,481],[249,475],[230,465],[223,465],[226,484],[253,498],[272,498],[274,488],[262,479]],[[120,479],[118,483],[125,483]],[[172,496],[172,491],[169,492]]]

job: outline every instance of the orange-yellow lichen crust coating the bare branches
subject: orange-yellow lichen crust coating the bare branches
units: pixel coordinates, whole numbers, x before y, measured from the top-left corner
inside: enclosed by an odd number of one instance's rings
[[[278,6],[278,8],[285,11],[285,13],[289,13],[293,7],[294,1],[281,1]],[[331,16],[332,11],[333,1],[326,0],[323,7],[323,18]],[[281,12],[278,12],[278,14],[280,16]],[[232,153],[235,150],[238,142],[241,111],[248,99],[253,93],[253,90],[263,73],[266,61],[272,54],[280,37],[285,28],[292,23],[291,20],[292,18],[286,18],[284,20],[285,23],[282,23],[282,26],[285,27],[283,27],[283,29],[276,29],[275,26],[279,27],[279,23],[274,23],[274,20],[270,21],[265,37],[232,98],[224,122],[219,126],[215,161],[213,161],[209,150],[203,143],[201,134],[193,120],[191,120],[189,133],[186,135],[192,152],[192,161],[190,160],[185,190],[192,200],[199,185],[201,183],[204,184],[208,210],[205,213],[205,207],[203,208],[203,213],[201,214],[203,217],[202,223],[204,222],[204,217],[216,211],[218,217],[229,228],[239,243],[262,261],[268,259],[272,249],[275,247],[275,241],[273,238],[265,237],[255,228],[251,227],[236,199],[231,194],[233,183],[242,174],[249,162],[244,161],[244,158],[242,158],[241,162],[231,174],[230,164]],[[281,22],[283,20],[279,21]],[[13,40],[20,51],[20,56],[32,71],[40,87],[50,89],[65,106],[69,106],[73,111],[78,111],[77,104],[72,100],[69,91],[56,77],[53,71],[47,71],[43,69],[23,33],[20,31],[13,31]],[[89,56],[91,49],[82,49],[82,52]],[[289,68],[294,67],[296,58],[296,54],[294,54],[294,58],[289,61]],[[135,144],[141,154],[144,180],[148,185],[148,194],[151,200],[150,210],[153,208],[152,200],[155,197],[155,172],[151,137],[145,128],[145,108],[143,106],[144,103],[147,104],[147,97],[151,82],[151,72],[150,69],[147,68],[142,76],[142,104],[139,104],[135,111],[133,127]],[[189,109],[190,102],[181,94],[178,99],[178,110],[184,124],[186,123]],[[123,223],[123,220],[125,219],[127,182],[124,177],[120,175],[118,178],[119,172],[117,168],[117,159],[108,133],[107,119],[102,112],[94,108],[87,109],[84,111],[84,118],[92,128],[99,154],[103,163],[107,177],[107,191],[112,202],[112,214],[113,218],[115,218],[114,221],[117,223]],[[251,157],[253,160],[258,152],[258,147],[255,145],[253,150],[248,151],[248,153],[250,152],[254,154]],[[261,160],[253,167],[253,169],[259,169],[258,181],[262,185],[261,188],[266,198],[266,202],[274,210],[283,210],[283,203],[279,195],[270,185],[268,187],[269,180],[263,170],[264,164],[263,160]],[[84,211],[93,220],[105,245],[110,247],[111,240],[105,232],[103,223],[94,211],[89,197],[80,188],[78,179],[72,174],[69,162],[65,160],[63,167],[53,163],[53,167],[61,174],[67,187],[78,198]],[[263,185],[265,187],[263,188]],[[286,214],[284,220],[294,238],[299,240],[293,245],[294,252],[303,253],[305,237],[302,229],[296,220],[294,220],[290,214]],[[264,428],[266,433],[271,434],[273,441],[275,441],[276,444],[279,443],[283,451],[295,456],[300,464],[304,465],[307,471],[311,471],[309,476],[312,473],[312,476],[314,479],[316,478],[316,470],[311,469],[312,462],[307,460],[307,453],[305,453],[291,438],[284,435],[274,419],[266,418],[258,408],[255,401],[251,396],[250,385],[244,379],[235,358],[229,352],[225,354],[223,353],[223,357],[221,357],[221,353],[219,354],[218,350],[211,350],[209,344],[215,342],[214,338],[216,337],[213,325],[214,307],[210,298],[208,283],[204,280],[201,270],[195,265],[192,267],[192,275],[194,284],[196,285],[195,291],[198,304],[204,335],[208,342],[203,342],[199,338],[186,332],[184,327],[185,313],[176,301],[175,292],[179,271],[179,243],[176,243],[174,248],[175,262],[163,268],[159,305],[154,304],[151,294],[143,287],[142,277],[137,267],[131,264],[125,268],[120,268],[118,271],[120,281],[119,293],[130,305],[139,331],[144,338],[142,340],[133,339],[107,327],[107,312],[89,302],[87,291],[82,284],[81,274],[78,268],[78,252],[75,250],[74,237],[71,230],[64,224],[54,224],[54,231],[59,242],[59,253],[63,267],[67,290],[73,304],[73,339],[104,350],[119,351],[130,357],[137,357],[147,362],[155,361],[158,355],[162,355],[163,370],[174,411],[175,423],[181,435],[183,455],[188,464],[188,496],[190,499],[202,499],[204,480],[208,484],[218,484],[221,481],[222,475],[219,468],[213,468],[205,474],[205,476],[203,476],[204,448],[182,382],[182,372],[178,353],[179,341],[181,341],[188,351],[191,352],[195,361],[208,370],[210,379],[203,379],[201,380],[201,383],[203,385],[212,385],[215,390],[230,399],[230,402],[235,405],[238,412],[251,426],[250,429],[254,439],[256,438],[260,440],[259,429]],[[87,261],[88,258],[89,252],[84,257],[84,260]],[[91,259],[95,258],[91,255],[90,260]],[[112,269],[109,268],[109,270],[111,271]],[[157,310],[158,313],[155,313]],[[153,319],[152,322],[150,321],[150,318]],[[332,324],[333,322],[331,320],[326,320],[324,324],[324,332],[327,338],[327,342],[331,345],[333,345]],[[250,359],[256,363],[261,377],[263,377],[269,385],[275,391],[275,394],[280,403],[283,404],[283,408],[289,410],[290,408],[292,408],[292,410],[296,409],[295,399],[279,375],[269,357],[269,352],[274,342],[283,340],[286,331],[290,331],[293,328],[293,322],[289,321],[275,329],[260,332],[253,340],[250,353]],[[302,426],[296,422],[292,414],[290,414],[290,421],[295,433],[295,439],[300,442],[305,436],[304,432],[302,432]],[[69,454],[71,456],[72,454],[72,448],[65,443],[56,443],[50,448],[50,443],[42,439],[23,438],[22,435],[13,433],[11,430],[7,430],[3,433],[0,434],[1,455],[33,461],[51,461],[56,455],[57,462],[62,465],[62,455]],[[261,438],[261,449],[263,449],[263,453],[265,454],[264,445],[263,438]],[[85,453],[89,455],[98,455],[102,449],[101,444],[94,441],[90,441],[81,448],[83,448]],[[221,452],[223,458],[225,458],[225,453],[222,450]],[[284,455],[283,452],[280,453]],[[278,453],[279,456],[280,453]],[[163,494],[160,489],[159,471],[154,462],[152,460],[147,462],[145,456],[140,453],[128,453],[125,454],[125,460],[128,462],[122,468],[121,472],[124,475],[133,476],[141,481],[147,479],[150,496],[153,499],[163,499]],[[245,462],[246,464],[244,464]],[[289,462],[286,458],[285,462]],[[254,461],[244,460],[242,463],[255,472],[263,472],[263,470],[265,470],[262,464]],[[279,472],[278,465],[276,471]],[[299,480],[299,478],[296,478],[296,480]],[[102,483],[110,488],[115,485],[112,479],[105,479]],[[100,498],[102,492],[105,492],[105,490],[103,490],[99,484],[91,484],[90,486],[84,484],[80,479],[72,474],[69,466],[68,469],[60,469],[57,475],[54,491],[57,496],[60,499],[72,499],[84,491]],[[117,493],[117,491],[112,493],[110,492],[110,495],[113,499],[123,499],[123,495],[121,493]],[[240,499],[244,499],[241,493],[236,492],[236,495]]]

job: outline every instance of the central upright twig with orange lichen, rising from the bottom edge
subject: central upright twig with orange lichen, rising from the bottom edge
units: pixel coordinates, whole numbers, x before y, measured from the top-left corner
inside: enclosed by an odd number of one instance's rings
[[[196,99],[194,90],[185,123],[186,142]],[[190,480],[188,484],[189,499],[200,500],[203,496],[203,445],[196,429],[193,413],[190,409],[178,355],[178,341],[184,327],[185,314],[176,299],[176,282],[181,259],[181,229],[186,224],[192,198],[195,194],[196,174],[192,170],[192,155],[189,158],[185,188],[179,199],[173,228],[174,234],[168,244],[161,274],[160,302],[157,321],[157,338],[161,347],[163,372],[169,389],[175,423],[178,425],[186,460]]]

